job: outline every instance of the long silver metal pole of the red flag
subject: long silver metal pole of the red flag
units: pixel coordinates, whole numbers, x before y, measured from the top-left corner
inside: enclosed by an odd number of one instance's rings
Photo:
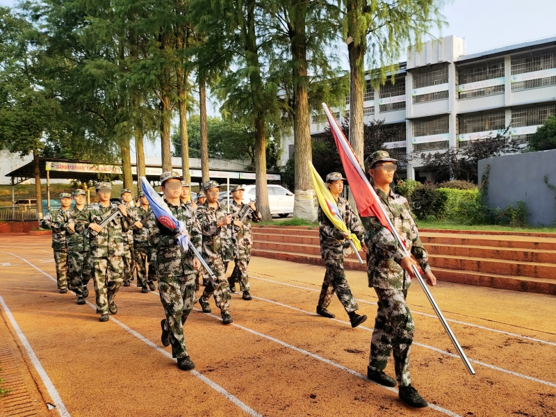
[[[341,129],[339,129],[339,127],[338,127],[338,123],[336,123],[336,120],[334,120],[334,117],[332,117],[332,114],[330,113],[330,110],[329,110],[327,104],[322,103],[322,108],[324,108],[324,110],[325,110],[325,113],[327,115],[330,127],[331,127],[331,129],[334,133],[334,136],[336,136],[336,138],[338,139],[338,142],[342,142],[342,140],[345,142],[345,136],[343,136],[343,133],[342,133]],[[335,125],[332,124],[331,120],[334,120]],[[336,131],[336,129],[338,131]],[[347,146],[348,146],[348,149],[349,149],[349,144],[347,144]],[[339,149],[338,149],[338,151],[339,151]],[[344,149],[344,152],[347,154],[347,152],[348,152],[347,149]],[[350,150],[349,152],[352,152],[352,151]],[[357,157],[355,157],[355,158],[357,160]],[[363,170],[361,169],[361,166],[359,165],[359,163],[354,163],[354,168],[355,168],[355,170],[357,170],[358,174],[361,176],[361,179],[366,181],[369,191],[371,193],[375,193],[375,190],[373,189],[372,186],[370,186],[370,183],[368,182],[368,179],[366,178],[366,176],[365,176]],[[375,193],[375,197],[377,197],[376,193]],[[411,256],[411,254],[409,254],[407,248],[405,247],[405,245],[402,241],[402,238],[400,238],[400,235],[398,234],[398,232],[393,227],[393,224],[390,221],[388,213],[386,213],[386,209],[382,205],[382,202],[380,201],[380,199],[378,197],[376,198],[376,201],[378,203],[378,206],[380,207],[380,211],[382,211],[382,215],[384,215],[384,218],[386,218],[386,222],[388,223],[390,231],[392,232],[394,238],[396,240],[398,240],[398,245],[400,245],[400,247],[402,248],[402,251],[404,252],[405,256]],[[439,306],[434,301],[434,298],[432,297],[432,294],[430,293],[429,288],[427,288],[427,284],[425,283],[425,280],[423,279],[423,277],[421,277],[420,272],[419,272],[418,268],[416,267],[416,265],[412,265],[412,266],[413,266],[414,275],[417,277],[417,280],[419,281],[420,286],[423,288],[423,291],[425,292],[425,295],[427,296],[427,299],[429,300],[430,304],[432,305],[432,309],[434,309],[434,312],[436,313],[436,316],[438,316],[438,318],[439,318],[440,322],[442,323],[446,333],[448,333],[448,336],[450,337],[450,340],[452,341],[452,343],[454,344],[454,347],[456,348],[457,352],[459,353],[459,357],[464,362],[464,365],[466,366],[468,372],[471,375],[475,375],[475,370],[473,369],[473,366],[471,366],[471,362],[469,362],[469,359],[467,359],[467,356],[466,356],[464,350],[461,348],[461,345],[459,345],[459,342],[457,341],[456,336],[452,332],[452,329],[450,328],[450,325],[448,325],[448,322],[446,322],[446,319],[444,318],[444,316],[442,314],[442,311],[439,309]]]

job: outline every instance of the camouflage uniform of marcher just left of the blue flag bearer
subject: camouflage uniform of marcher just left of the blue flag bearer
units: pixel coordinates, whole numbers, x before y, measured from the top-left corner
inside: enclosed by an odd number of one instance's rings
[[[153,247],[149,242],[149,231],[156,227],[156,218],[152,211],[150,211],[150,208],[145,209],[142,206],[138,206],[131,209],[131,224],[140,222],[145,216],[149,220],[141,229],[131,226],[133,233],[133,256],[137,268],[137,284],[142,288],[146,288],[149,283],[156,281],[156,265],[151,263]]]

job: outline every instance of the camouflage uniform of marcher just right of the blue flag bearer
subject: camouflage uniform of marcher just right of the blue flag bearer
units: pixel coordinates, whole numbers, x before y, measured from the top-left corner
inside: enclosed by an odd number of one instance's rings
[[[208,182],[215,183],[215,181]],[[216,186],[218,183],[215,183],[213,187]],[[207,189],[205,188],[205,190]],[[208,299],[214,294],[214,301],[222,312],[222,316],[229,313],[231,298],[226,271],[229,261],[233,261],[234,255],[237,253],[236,238],[231,229],[232,224],[216,227],[218,220],[226,215],[226,211],[220,207],[220,204],[218,204],[218,208],[213,208],[208,205],[208,201],[197,208],[197,218],[203,234],[202,256],[216,276],[213,278],[206,274],[208,285],[204,288],[201,302],[208,302]]]

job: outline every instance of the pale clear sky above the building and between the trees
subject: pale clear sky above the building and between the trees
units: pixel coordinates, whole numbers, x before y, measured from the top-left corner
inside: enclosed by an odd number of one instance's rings
[[[16,3],[0,0],[2,6]],[[448,26],[433,35],[466,38],[467,54],[556,35],[555,0],[453,0],[442,13]],[[207,111],[218,115],[218,104],[208,103]],[[160,156],[160,142],[146,144],[145,153]]]

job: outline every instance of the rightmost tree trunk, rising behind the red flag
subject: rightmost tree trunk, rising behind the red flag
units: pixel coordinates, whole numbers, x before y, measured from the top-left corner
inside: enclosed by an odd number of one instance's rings
[[[348,12],[357,10],[357,0],[347,2]],[[359,159],[359,165],[363,167],[363,94],[367,84],[365,80],[365,49],[366,38],[356,36],[357,15],[352,13],[348,23],[347,36],[354,41],[347,45],[347,54],[350,58],[350,145],[352,145],[355,156]],[[375,103],[378,104],[377,100]]]

